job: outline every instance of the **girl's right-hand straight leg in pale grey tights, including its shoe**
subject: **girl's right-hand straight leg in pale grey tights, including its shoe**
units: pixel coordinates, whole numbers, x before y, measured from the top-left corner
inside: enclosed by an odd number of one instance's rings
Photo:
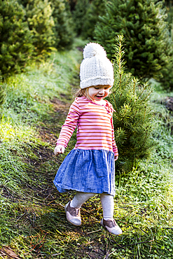
[[[113,235],[122,234],[122,230],[118,227],[116,221],[113,219],[114,202],[113,196],[102,193],[100,195],[103,208],[103,218],[100,224],[106,228]]]

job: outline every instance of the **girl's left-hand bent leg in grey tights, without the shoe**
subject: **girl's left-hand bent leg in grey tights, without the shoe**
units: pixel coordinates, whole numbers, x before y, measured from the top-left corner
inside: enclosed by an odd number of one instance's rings
[[[79,209],[81,208],[82,204],[86,202],[91,197],[95,196],[96,193],[82,193],[77,192],[76,195],[74,195],[74,199],[70,202],[70,207]]]

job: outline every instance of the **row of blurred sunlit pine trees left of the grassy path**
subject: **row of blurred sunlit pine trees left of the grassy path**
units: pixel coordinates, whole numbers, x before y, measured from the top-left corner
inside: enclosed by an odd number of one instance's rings
[[[65,0],[0,1],[2,77],[25,71],[34,59],[70,49],[74,25]]]

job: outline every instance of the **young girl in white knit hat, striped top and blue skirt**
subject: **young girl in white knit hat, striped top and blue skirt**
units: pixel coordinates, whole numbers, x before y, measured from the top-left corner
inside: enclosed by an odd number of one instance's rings
[[[74,199],[64,207],[69,223],[81,225],[82,204],[100,194],[103,209],[100,224],[111,234],[120,235],[122,230],[113,219],[114,160],[118,159],[113,131],[113,106],[104,100],[113,86],[113,66],[104,48],[97,43],[87,44],[83,57],[80,67],[81,89],[71,104],[54,153],[64,153],[76,126],[77,143],[62,162],[54,183],[60,193],[76,190]]]

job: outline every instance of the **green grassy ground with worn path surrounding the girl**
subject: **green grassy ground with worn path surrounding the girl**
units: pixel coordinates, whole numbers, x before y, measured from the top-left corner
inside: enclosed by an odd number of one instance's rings
[[[99,225],[99,195],[83,205],[81,227],[65,219],[64,204],[74,192],[58,193],[53,179],[75,137],[64,155],[55,158],[53,149],[72,102],[71,88],[78,85],[82,52],[76,47],[83,44],[78,40],[73,50],[54,53],[6,81],[0,125],[1,246],[25,259],[172,258],[173,117],[164,104],[171,93],[154,81],[153,139],[158,146],[151,160],[127,175],[116,174],[114,216],[123,235],[114,237]]]

